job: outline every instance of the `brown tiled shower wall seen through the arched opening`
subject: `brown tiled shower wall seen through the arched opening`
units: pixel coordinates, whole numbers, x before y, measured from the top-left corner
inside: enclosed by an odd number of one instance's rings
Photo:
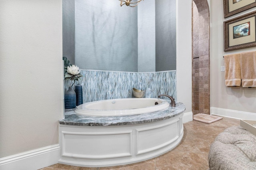
[[[209,7],[193,3],[192,111],[210,114]]]

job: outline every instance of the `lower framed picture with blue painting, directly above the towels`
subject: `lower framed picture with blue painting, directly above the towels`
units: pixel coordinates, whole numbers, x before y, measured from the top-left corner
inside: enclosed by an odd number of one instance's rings
[[[224,51],[256,46],[256,11],[224,21]]]

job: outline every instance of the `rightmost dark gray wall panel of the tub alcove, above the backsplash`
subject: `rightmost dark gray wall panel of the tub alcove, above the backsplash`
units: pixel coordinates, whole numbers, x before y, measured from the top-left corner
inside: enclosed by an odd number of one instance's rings
[[[176,70],[176,0],[156,0],[156,71]]]

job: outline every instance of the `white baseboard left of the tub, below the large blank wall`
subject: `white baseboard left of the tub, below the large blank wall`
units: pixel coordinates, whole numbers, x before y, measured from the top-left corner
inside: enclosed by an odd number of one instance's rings
[[[57,164],[60,145],[52,145],[20,154],[0,158],[0,170],[38,170]]]

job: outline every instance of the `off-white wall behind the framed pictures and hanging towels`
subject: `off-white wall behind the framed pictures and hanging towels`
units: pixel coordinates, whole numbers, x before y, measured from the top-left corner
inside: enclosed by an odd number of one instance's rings
[[[211,0],[211,28],[210,28],[210,86],[211,107],[230,109],[254,113],[256,115],[256,89],[255,88],[227,88],[224,83],[224,72],[220,66],[224,65],[223,56],[231,53],[255,51],[256,47],[224,52],[223,21],[247,14],[256,8],[236,14],[224,19],[223,0]]]

